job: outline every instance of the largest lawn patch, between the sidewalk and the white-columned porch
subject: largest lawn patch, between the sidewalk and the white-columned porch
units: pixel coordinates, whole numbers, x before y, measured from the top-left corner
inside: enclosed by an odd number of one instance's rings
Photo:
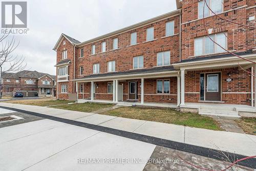
[[[218,122],[211,117],[202,116],[195,113],[181,113],[174,109],[146,108],[136,106],[122,107],[101,114],[222,131]]]

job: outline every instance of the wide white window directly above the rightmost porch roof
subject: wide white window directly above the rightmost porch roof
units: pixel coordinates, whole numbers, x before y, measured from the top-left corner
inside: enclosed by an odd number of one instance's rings
[[[227,37],[226,33],[217,33],[211,34],[210,38],[208,36],[197,37],[194,40],[195,44],[195,54],[194,56],[214,54],[214,53],[222,53],[225,52],[221,47],[227,49]],[[216,41],[217,44],[214,43]]]

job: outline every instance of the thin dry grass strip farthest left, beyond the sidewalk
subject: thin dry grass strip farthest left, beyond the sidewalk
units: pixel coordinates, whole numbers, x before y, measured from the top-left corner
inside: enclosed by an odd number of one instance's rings
[[[6,103],[16,103],[16,104],[27,104],[27,105],[38,105],[38,106],[48,106],[48,105],[60,105],[68,104],[75,101],[69,100],[54,100],[54,99],[27,99],[27,100],[8,100],[3,101]]]

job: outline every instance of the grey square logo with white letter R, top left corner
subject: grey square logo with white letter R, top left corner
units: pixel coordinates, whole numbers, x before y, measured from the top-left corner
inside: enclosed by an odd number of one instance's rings
[[[2,2],[2,28],[27,28],[27,2]]]

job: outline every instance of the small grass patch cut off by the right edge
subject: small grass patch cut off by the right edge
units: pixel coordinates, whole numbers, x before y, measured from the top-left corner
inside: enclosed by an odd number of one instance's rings
[[[236,122],[246,134],[256,135],[256,118],[241,117]]]

